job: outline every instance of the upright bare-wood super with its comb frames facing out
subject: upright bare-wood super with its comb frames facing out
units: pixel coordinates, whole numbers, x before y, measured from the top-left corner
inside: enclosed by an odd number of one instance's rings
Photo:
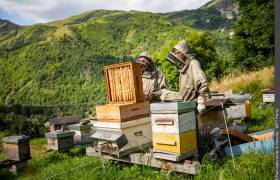
[[[144,101],[141,65],[134,62],[104,67],[109,103],[137,103]]]

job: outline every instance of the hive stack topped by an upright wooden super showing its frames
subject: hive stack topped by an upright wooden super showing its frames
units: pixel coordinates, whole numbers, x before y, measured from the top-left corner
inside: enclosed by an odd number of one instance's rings
[[[150,104],[145,101],[140,64],[106,66],[108,104],[96,106],[95,150],[125,156],[152,142]]]

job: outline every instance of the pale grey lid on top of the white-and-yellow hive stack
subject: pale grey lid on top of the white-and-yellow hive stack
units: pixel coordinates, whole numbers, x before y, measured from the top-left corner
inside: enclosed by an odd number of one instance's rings
[[[171,103],[152,103],[150,105],[151,112],[184,112],[196,109],[196,101],[191,102],[171,102]]]

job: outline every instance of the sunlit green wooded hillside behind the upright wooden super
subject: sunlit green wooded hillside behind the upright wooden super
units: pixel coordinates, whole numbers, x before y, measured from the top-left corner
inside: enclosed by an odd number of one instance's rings
[[[143,12],[97,10],[0,41],[0,104],[105,101],[103,66],[156,52],[190,28]]]

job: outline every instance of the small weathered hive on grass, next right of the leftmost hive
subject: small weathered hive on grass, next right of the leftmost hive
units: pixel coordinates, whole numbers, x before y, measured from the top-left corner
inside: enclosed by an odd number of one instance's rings
[[[53,131],[45,134],[48,138],[48,149],[66,150],[74,145],[74,131]]]

